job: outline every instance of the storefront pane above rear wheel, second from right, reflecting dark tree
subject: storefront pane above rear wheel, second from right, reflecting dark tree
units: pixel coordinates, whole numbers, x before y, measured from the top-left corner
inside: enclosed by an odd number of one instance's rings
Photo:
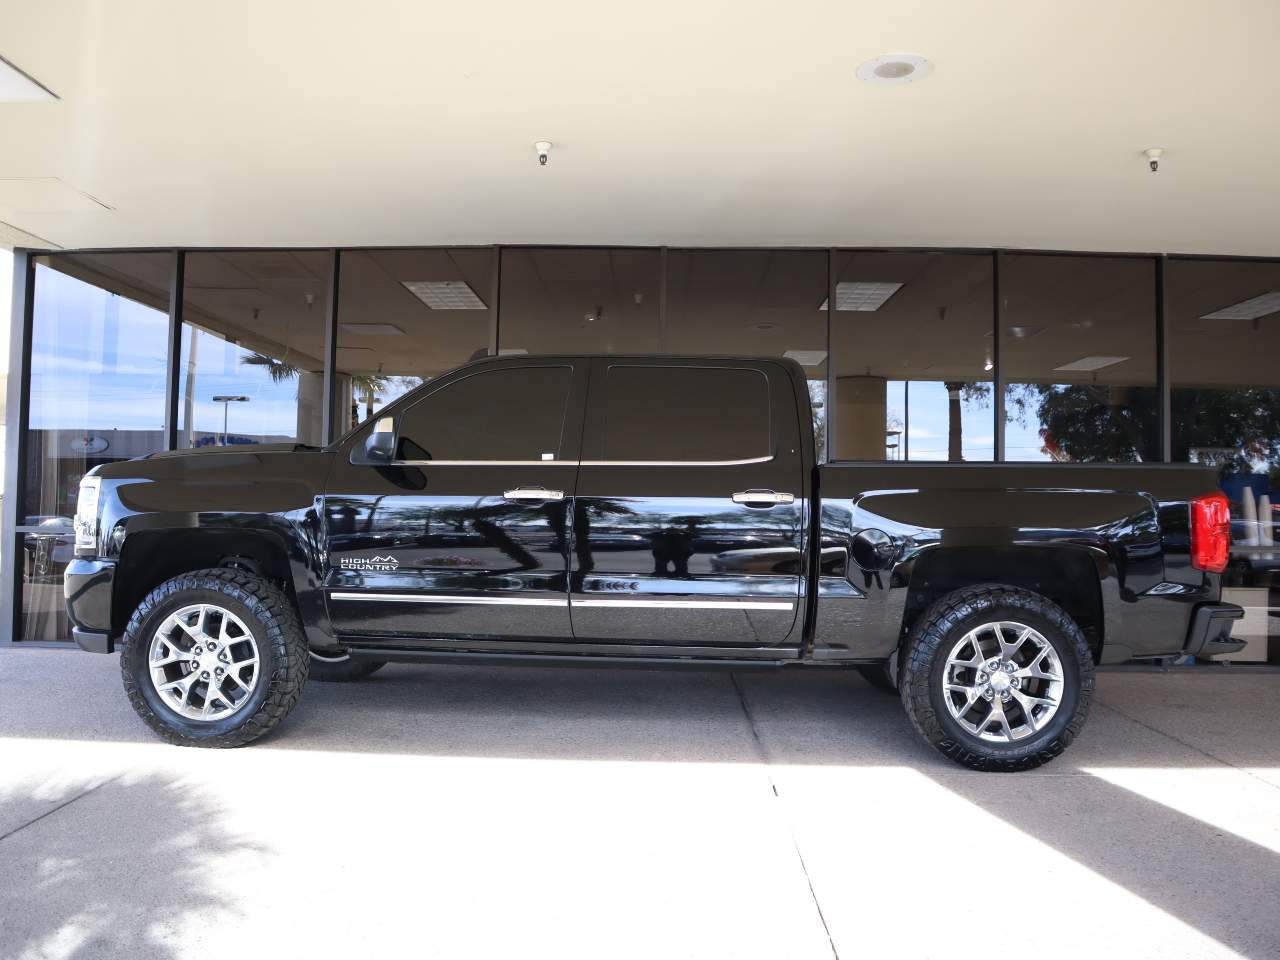
[[[1006,255],[1005,458],[1160,460],[1156,265]]]

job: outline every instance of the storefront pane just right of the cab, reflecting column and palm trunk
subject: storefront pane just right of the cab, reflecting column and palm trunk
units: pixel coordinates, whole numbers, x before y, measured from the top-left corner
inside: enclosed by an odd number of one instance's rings
[[[993,460],[992,305],[989,255],[838,252],[832,460]]]

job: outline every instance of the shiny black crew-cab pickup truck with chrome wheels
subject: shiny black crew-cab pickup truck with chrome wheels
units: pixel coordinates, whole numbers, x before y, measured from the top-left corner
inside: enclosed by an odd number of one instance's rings
[[[856,667],[995,771],[1070,744],[1094,664],[1242,646],[1211,470],[819,465],[809,410],[786,360],[490,357],[324,449],[97,467],[73,634],[175,744],[389,660]]]

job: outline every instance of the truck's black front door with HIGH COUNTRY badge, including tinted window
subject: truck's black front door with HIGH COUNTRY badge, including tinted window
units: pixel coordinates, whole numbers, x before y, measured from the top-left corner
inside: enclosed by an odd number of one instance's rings
[[[571,636],[570,516],[588,365],[481,362],[388,410],[389,463],[365,462],[372,425],[326,486],[325,593],[347,639]]]

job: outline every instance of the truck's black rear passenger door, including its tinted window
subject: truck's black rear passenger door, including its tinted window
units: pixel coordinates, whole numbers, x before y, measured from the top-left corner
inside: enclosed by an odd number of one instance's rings
[[[801,433],[768,361],[596,360],[573,508],[579,641],[799,636]]]

